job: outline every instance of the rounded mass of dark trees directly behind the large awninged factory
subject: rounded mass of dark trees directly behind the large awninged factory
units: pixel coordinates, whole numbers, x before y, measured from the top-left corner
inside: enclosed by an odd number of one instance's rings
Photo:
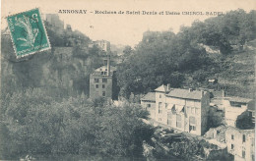
[[[134,53],[117,70],[120,93],[126,98],[131,92],[151,91],[162,83],[179,87],[184,79],[178,73],[199,69],[205,61],[205,51],[171,31],[145,32]]]

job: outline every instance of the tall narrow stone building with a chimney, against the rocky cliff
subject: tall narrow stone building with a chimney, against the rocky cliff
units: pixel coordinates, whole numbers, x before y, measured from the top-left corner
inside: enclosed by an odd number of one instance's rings
[[[110,57],[103,59],[104,66],[99,67],[90,75],[90,98],[106,97],[115,99],[115,67],[110,66]]]

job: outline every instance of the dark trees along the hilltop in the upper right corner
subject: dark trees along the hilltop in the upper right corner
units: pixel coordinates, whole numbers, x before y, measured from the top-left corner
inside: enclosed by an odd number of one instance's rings
[[[192,43],[214,46],[222,54],[229,54],[233,45],[242,48],[246,42],[255,39],[255,16],[255,11],[248,14],[241,9],[230,11],[205,22],[196,21],[192,27],[181,27],[181,34]]]

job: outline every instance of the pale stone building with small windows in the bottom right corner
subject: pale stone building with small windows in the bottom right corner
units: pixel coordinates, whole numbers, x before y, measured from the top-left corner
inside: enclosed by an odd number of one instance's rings
[[[255,160],[255,131],[228,127],[225,132],[227,151],[234,155],[235,161]]]

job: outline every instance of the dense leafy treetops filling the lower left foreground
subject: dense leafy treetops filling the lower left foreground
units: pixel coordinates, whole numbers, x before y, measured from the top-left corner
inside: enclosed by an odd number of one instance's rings
[[[42,89],[6,95],[1,111],[1,158],[36,155],[143,157],[153,129],[135,104],[115,106],[98,98],[53,99]]]

